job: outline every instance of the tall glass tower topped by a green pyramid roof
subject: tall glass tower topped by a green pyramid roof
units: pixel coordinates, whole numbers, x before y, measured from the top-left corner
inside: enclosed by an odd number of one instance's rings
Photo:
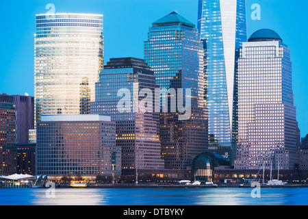
[[[160,89],[167,91],[162,94],[160,114],[165,168],[185,170],[192,166],[196,155],[207,150],[204,54],[200,34],[193,23],[172,12],[149,28],[148,40],[144,42],[144,59],[154,71]],[[183,94],[180,89],[185,90]],[[185,119],[181,118],[183,112],[179,108],[172,110],[175,105],[179,107],[179,101],[175,99],[181,95],[191,102],[183,101],[187,107],[185,113],[189,114]],[[166,105],[167,112],[163,109]]]

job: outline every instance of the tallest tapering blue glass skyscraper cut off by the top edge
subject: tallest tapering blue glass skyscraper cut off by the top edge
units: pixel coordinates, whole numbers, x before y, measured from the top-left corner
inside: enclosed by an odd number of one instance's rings
[[[209,149],[233,160],[231,146],[238,136],[237,59],[247,40],[245,0],[199,0],[198,30],[205,43]]]

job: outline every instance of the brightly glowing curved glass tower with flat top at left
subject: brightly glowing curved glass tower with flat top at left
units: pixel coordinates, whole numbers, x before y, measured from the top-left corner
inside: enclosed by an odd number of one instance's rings
[[[36,15],[36,121],[42,114],[88,114],[102,68],[103,15]]]

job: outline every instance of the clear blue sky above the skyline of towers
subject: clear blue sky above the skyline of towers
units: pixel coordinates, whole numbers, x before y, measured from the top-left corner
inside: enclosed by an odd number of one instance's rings
[[[0,93],[34,96],[35,14],[55,12],[104,15],[105,62],[110,57],[143,58],[151,23],[176,11],[197,23],[198,0],[0,0]],[[261,20],[251,19],[251,5],[261,6]],[[291,49],[294,104],[301,136],[308,133],[307,10],[305,0],[246,0],[248,36],[257,29],[273,29]]]

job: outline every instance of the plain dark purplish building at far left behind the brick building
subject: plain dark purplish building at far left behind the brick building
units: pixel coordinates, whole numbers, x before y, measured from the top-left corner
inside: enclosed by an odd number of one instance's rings
[[[29,130],[34,129],[34,97],[0,94],[0,103],[12,103],[15,108],[16,144],[29,141]]]

